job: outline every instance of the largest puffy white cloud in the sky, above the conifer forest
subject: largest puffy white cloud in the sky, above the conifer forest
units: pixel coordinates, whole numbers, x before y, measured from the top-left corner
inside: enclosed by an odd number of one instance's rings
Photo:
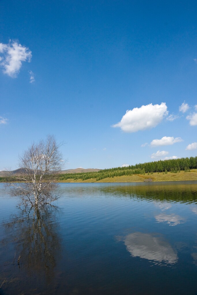
[[[140,108],[127,110],[121,121],[113,127],[120,127],[124,132],[137,132],[156,127],[168,114],[165,102],[159,104],[147,104]]]

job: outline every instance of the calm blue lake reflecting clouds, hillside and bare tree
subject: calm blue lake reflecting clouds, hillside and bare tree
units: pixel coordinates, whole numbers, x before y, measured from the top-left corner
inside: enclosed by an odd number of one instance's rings
[[[37,212],[0,183],[1,295],[197,294],[197,181],[59,190]]]

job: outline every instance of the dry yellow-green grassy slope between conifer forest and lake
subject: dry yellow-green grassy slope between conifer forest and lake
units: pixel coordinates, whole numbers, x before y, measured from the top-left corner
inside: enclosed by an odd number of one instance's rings
[[[83,180],[82,179],[67,179],[60,182],[141,182],[151,178],[152,181],[184,181],[184,180],[197,180],[197,170],[190,172],[180,171],[177,173],[153,173],[153,174],[137,174],[132,176],[114,176],[96,181],[96,178]]]

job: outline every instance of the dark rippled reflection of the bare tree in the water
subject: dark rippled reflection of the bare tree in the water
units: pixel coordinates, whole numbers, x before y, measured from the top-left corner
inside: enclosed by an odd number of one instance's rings
[[[25,291],[23,288],[28,291],[42,288],[54,278],[56,258],[60,256],[61,250],[56,221],[59,211],[53,205],[19,208],[19,214],[11,216],[11,220],[4,223],[7,238],[2,242],[8,249],[14,246],[14,262],[10,263],[10,267],[18,265],[14,273],[19,280],[20,291]],[[9,291],[12,293],[10,286]]]

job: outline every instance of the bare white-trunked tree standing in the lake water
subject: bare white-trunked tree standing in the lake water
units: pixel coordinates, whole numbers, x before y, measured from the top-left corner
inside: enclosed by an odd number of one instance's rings
[[[19,155],[19,183],[8,183],[14,196],[21,196],[23,203],[31,206],[50,204],[58,199],[56,175],[63,168],[64,161],[53,135],[46,140],[33,142],[22,155]]]

